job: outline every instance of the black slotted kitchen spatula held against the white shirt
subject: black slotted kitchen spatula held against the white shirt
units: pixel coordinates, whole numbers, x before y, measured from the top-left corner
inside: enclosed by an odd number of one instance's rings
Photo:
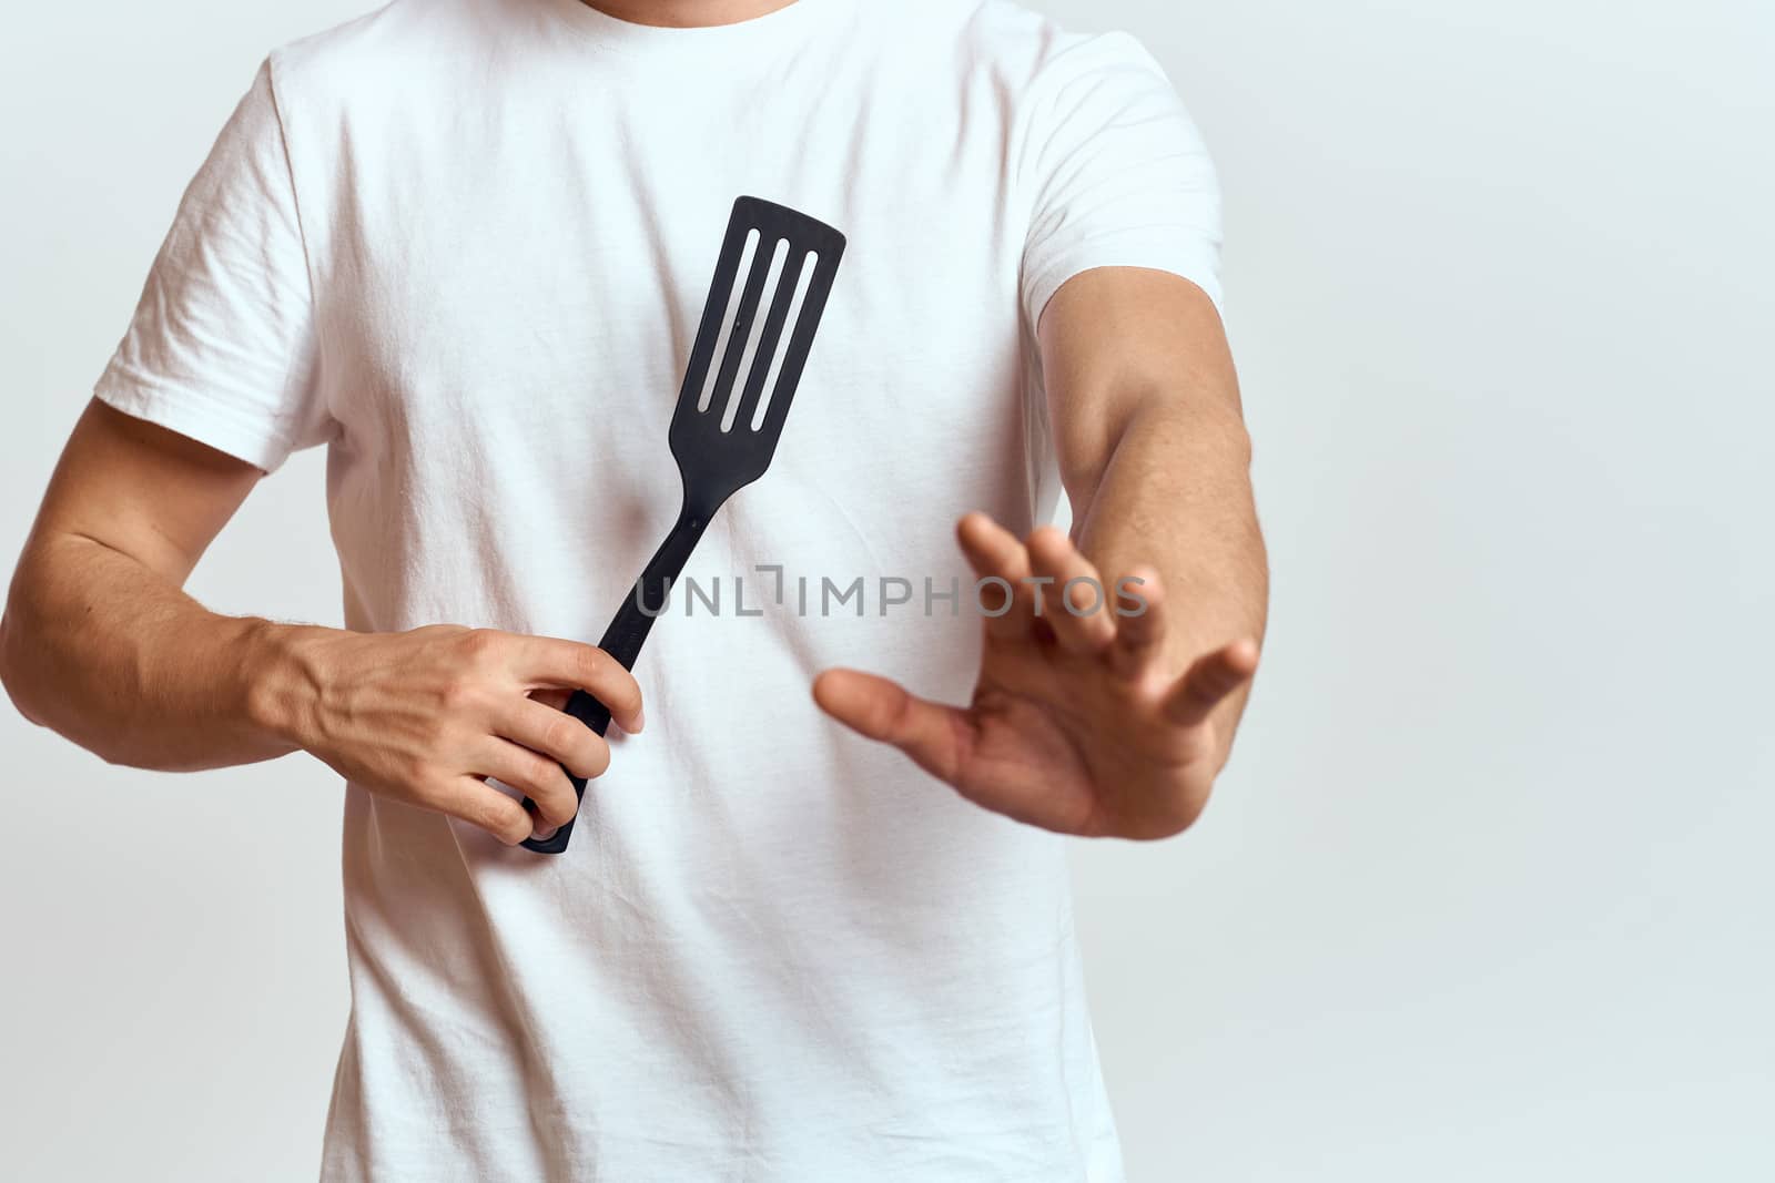
[[[653,619],[715,511],[770,466],[843,254],[845,236],[824,222],[756,197],[733,202],[671,420],[683,507],[598,642],[623,669],[634,669]],[[758,323],[765,300],[769,312]],[[611,711],[586,692],[573,693],[566,713],[600,736],[611,725]],[[568,775],[584,800],[586,780]],[[534,816],[536,805],[524,805]],[[570,821],[524,846],[559,855],[572,837]]]

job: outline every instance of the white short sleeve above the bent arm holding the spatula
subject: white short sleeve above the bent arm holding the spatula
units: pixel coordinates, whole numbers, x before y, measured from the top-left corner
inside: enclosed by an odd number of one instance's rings
[[[266,472],[328,438],[270,62],[186,188],[94,396]]]

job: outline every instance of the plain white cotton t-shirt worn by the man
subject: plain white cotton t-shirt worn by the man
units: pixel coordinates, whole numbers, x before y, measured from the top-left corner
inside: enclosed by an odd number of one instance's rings
[[[1134,41],[1005,0],[396,0],[272,53],[98,397],[266,470],[325,443],[350,628],[596,640],[678,511],[742,193],[850,241],[776,463],[687,569],[722,610],[655,626],[648,729],[563,857],[348,787],[328,1179],[1122,1178],[1063,839],[809,683],[966,701],[951,523],[1054,511],[1049,296],[1136,264],[1218,298],[1212,167]]]

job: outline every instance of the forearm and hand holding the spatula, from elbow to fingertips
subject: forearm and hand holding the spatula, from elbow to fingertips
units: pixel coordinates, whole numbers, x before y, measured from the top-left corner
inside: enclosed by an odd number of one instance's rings
[[[641,686],[595,646],[217,615],[170,576],[71,532],[34,541],[20,562],[0,679],[27,718],[117,764],[193,772],[302,748],[508,846],[538,823],[566,825],[579,809],[570,775],[611,763],[604,734],[559,709],[575,690],[625,733],[643,725]],[[534,802],[534,816],[490,779]]]

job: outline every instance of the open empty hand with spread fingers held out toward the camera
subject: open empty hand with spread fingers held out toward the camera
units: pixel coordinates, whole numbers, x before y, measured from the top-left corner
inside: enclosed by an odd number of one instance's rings
[[[957,534],[983,580],[1015,589],[1008,612],[985,624],[973,702],[943,706],[873,674],[829,670],[815,683],[820,708],[1017,821],[1129,839],[1187,828],[1227,756],[1216,708],[1255,674],[1257,644],[1235,640],[1175,676],[1154,571],[1131,573],[1145,612],[1118,615],[1116,582],[1060,530],[1022,543],[969,514]],[[1074,580],[1093,580],[1108,603]],[[1069,584],[1077,612],[1060,599]]]

